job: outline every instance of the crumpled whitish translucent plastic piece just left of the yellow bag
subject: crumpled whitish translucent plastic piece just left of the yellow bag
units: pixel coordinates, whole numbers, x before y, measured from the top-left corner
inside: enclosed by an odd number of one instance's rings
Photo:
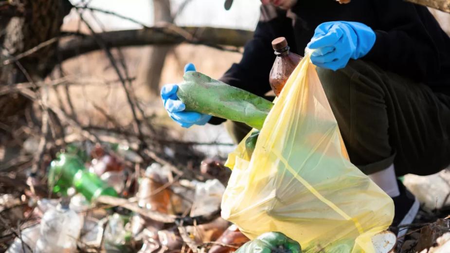
[[[208,215],[217,211],[224,192],[225,186],[216,179],[198,182],[191,216]]]

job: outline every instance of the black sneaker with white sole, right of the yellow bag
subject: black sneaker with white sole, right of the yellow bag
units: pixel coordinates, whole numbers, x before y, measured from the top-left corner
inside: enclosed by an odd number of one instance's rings
[[[401,181],[398,181],[400,195],[392,198],[394,200],[395,215],[390,230],[397,234],[397,237],[403,237],[408,231],[409,225],[413,223],[417,212],[419,211],[419,201],[406,189]]]

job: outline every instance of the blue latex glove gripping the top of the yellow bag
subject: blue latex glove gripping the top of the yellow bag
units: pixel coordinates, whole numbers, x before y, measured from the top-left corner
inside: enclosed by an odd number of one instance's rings
[[[320,24],[308,43],[314,65],[330,70],[344,68],[350,58],[369,53],[377,36],[372,28],[358,22],[333,21]]]

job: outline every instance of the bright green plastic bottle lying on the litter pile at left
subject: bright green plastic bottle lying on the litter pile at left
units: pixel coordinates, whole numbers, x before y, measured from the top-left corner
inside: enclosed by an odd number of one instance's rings
[[[74,187],[89,201],[101,195],[118,196],[116,191],[97,175],[88,172],[80,158],[71,154],[59,154],[58,158],[50,163],[48,182],[54,193],[67,195],[67,189]]]

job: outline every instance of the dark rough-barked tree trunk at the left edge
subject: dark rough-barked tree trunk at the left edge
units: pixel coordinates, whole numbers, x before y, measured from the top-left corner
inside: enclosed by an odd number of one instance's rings
[[[56,43],[11,64],[4,65],[3,61],[58,36],[63,18],[72,7],[68,0],[10,0],[9,4],[23,11],[16,17],[0,18],[0,29],[4,31],[0,41],[0,86],[25,81],[35,82],[53,69],[54,64],[49,62],[54,62]],[[1,95],[1,126],[15,129],[15,125],[23,119],[25,108],[30,104],[29,99],[18,94]],[[5,127],[0,128],[0,141],[5,138],[7,132]]]

